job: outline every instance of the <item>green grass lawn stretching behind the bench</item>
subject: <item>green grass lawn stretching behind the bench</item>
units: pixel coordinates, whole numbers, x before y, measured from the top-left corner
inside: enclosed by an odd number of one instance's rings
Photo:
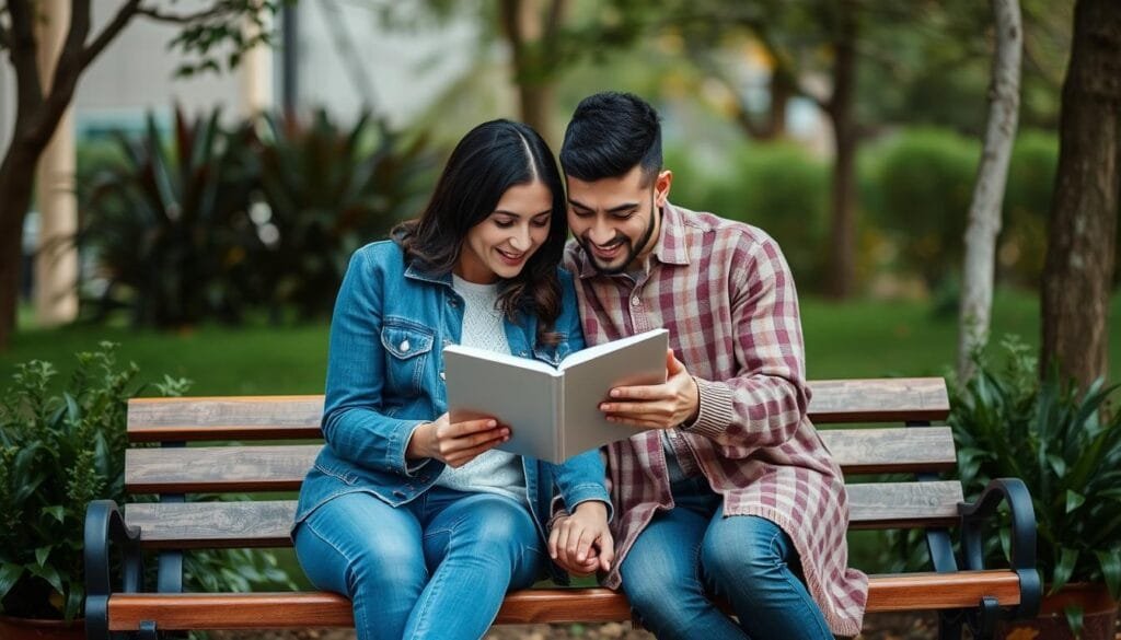
[[[1112,304],[1112,316],[1119,313],[1121,295]],[[956,315],[938,316],[927,303],[834,304],[806,298],[802,315],[812,379],[939,375],[954,363]],[[1035,296],[1000,291],[993,315],[994,336],[1015,333],[1029,344],[1039,343]],[[1110,378],[1121,380],[1121,322],[1111,323],[1110,330]],[[251,328],[205,325],[180,333],[101,326],[24,328],[12,347],[0,353],[0,386],[7,384],[17,362],[48,360],[65,373],[73,368],[74,352],[109,340],[121,344],[120,360],[140,365],[141,379],[164,373],[189,378],[192,395],[319,393],[327,331],[325,322]]]

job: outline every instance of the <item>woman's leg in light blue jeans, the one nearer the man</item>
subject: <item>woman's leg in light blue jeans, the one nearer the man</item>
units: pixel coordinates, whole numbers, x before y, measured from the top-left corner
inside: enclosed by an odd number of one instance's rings
[[[492,493],[433,488],[425,495],[424,551],[432,579],[405,637],[482,638],[510,588],[529,586],[544,562],[529,509]]]

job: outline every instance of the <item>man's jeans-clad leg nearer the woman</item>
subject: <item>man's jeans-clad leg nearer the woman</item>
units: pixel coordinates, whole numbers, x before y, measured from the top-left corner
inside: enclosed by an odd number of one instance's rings
[[[661,640],[743,640],[701,579],[701,542],[720,500],[702,482],[674,484],[676,507],[657,513],[634,540],[620,567],[622,587],[642,623]]]

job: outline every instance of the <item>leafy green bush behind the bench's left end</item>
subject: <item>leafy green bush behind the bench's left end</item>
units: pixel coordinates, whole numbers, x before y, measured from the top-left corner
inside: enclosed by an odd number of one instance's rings
[[[76,354],[61,395],[50,392],[53,364],[18,364],[0,397],[0,612],[71,620],[82,611],[86,504],[123,503],[127,402],[147,388],[136,364],[117,364],[115,349]],[[163,396],[188,386],[166,375],[152,384]],[[188,587],[207,591],[291,585],[266,551],[193,553],[184,571]]]

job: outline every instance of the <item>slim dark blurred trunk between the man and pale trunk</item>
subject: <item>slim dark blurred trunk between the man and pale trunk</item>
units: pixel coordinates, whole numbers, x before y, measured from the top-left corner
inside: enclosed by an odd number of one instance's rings
[[[843,299],[852,293],[856,265],[856,145],[853,112],[856,82],[855,8],[843,7],[834,40],[833,95],[827,113],[833,123],[836,158],[833,165],[830,281],[827,294]]]

